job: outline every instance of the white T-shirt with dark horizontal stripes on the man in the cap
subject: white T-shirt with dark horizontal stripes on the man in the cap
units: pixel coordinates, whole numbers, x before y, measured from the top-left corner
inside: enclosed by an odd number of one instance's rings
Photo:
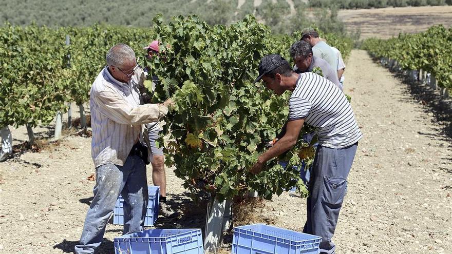
[[[363,137],[341,89],[312,72],[299,75],[289,99],[289,121],[298,119],[316,128],[325,147],[344,148]]]

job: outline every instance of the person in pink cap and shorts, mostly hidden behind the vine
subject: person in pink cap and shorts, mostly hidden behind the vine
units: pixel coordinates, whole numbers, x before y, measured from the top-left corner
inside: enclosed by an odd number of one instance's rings
[[[146,58],[148,60],[151,60],[154,56],[159,56],[159,44],[159,41],[153,41],[149,44],[149,46],[143,48],[147,50]],[[160,82],[158,77],[151,72],[152,70],[150,68],[146,69],[145,71],[147,72],[148,79],[150,77],[153,82],[152,91],[148,91],[144,86],[141,86],[140,93],[143,98],[143,103],[150,103],[150,100],[152,99],[153,93],[155,91],[155,87]],[[160,187],[160,214],[165,218],[174,218],[178,215],[178,213],[172,210],[170,206],[166,204],[166,173],[163,149],[157,147],[156,145],[156,140],[159,138],[159,132],[162,131],[161,126],[161,123],[151,123],[146,126],[148,129],[150,148],[152,150],[154,159],[151,162],[152,182],[154,183],[154,185]]]

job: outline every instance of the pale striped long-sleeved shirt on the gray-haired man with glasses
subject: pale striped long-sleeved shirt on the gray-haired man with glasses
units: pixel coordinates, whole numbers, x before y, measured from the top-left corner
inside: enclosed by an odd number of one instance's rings
[[[91,157],[95,167],[123,166],[131,148],[143,139],[142,125],[157,122],[168,112],[167,107],[160,104],[140,105],[138,84],[144,79],[143,70],[139,68],[129,82],[122,83],[105,67],[92,84],[89,105]]]

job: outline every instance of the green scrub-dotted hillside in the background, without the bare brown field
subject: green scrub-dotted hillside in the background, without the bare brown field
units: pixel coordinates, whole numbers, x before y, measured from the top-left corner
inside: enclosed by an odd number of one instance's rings
[[[312,15],[305,0],[0,0],[0,23],[42,26],[109,25],[150,27],[152,18],[161,13],[172,16],[196,14],[207,23],[228,25],[247,14],[270,26],[275,33],[292,33],[315,25],[329,32],[345,32],[335,11],[318,9]]]

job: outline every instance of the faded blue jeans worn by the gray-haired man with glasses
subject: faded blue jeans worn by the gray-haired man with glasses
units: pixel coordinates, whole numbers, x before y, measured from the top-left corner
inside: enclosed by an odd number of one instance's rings
[[[76,254],[93,254],[101,245],[120,193],[124,199],[124,235],[143,230],[148,201],[146,165],[139,156],[128,155],[124,166],[97,167],[93,192],[80,244],[74,248]]]

